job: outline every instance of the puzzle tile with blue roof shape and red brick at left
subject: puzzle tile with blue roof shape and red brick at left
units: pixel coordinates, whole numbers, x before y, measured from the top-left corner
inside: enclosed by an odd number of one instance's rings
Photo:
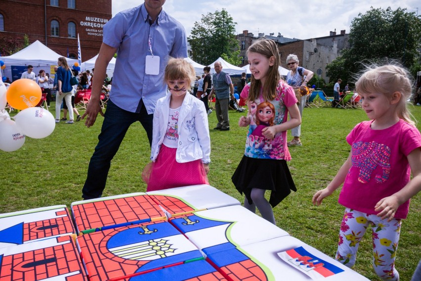
[[[0,214],[0,248],[74,233],[65,205]]]

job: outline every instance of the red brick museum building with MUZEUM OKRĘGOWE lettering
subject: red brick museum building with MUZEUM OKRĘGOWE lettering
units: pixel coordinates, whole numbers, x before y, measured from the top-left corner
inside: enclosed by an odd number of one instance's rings
[[[82,60],[99,52],[103,25],[110,20],[111,0],[0,0],[0,38],[42,42],[53,51]]]

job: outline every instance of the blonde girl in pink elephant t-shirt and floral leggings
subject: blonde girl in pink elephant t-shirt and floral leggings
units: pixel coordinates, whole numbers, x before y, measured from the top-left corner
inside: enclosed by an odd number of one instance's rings
[[[346,209],[336,259],[352,267],[359,242],[371,227],[376,274],[399,280],[395,258],[401,220],[407,217],[410,198],[421,189],[421,135],[406,107],[411,81],[402,67],[371,66],[355,86],[371,121],[358,124],[346,137],[348,159],[333,181],[314,194],[313,203],[320,205],[343,183],[338,202]]]

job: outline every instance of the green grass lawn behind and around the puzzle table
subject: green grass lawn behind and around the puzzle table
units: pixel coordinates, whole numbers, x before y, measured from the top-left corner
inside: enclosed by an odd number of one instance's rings
[[[421,107],[411,110],[421,128]],[[50,112],[54,115],[54,102]],[[239,199],[231,176],[244,153],[247,128],[238,127],[238,119],[246,113],[230,111],[231,130],[211,130],[211,186]],[[13,115],[13,114],[12,114]],[[98,141],[102,124],[98,117],[89,129],[84,121],[73,125],[56,124],[45,139],[26,138],[22,148],[14,152],[0,151],[0,213],[65,204],[70,207],[81,200],[89,159]],[[347,158],[350,146],[345,137],[359,122],[367,120],[360,109],[305,108],[302,119],[303,146],[290,148],[293,160],[289,167],[297,192],[274,208],[278,227],[292,236],[334,257],[339,225],[344,207],[337,203],[339,190],[319,207],[313,206],[314,192],[336,175]],[[209,127],[216,125],[215,113],[209,116]],[[291,137],[289,137],[289,140]],[[140,123],[127,132],[114,157],[103,196],[140,192],[146,185],[140,178],[149,162],[150,147]],[[401,280],[410,280],[421,258],[420,194],[413,198],[408,219],[402,224],[396,268]],[[264,230],[262,230],[264,231]],[[379,280],[372,268],[371,234],[366,234],[354,269],[370,280]]]

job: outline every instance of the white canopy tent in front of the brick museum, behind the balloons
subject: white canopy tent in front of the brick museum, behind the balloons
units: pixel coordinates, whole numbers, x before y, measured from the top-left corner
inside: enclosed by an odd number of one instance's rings
[[[3,76],[9,77],[13,79],[13,81],[19,79],[20,77],[12,77],[12,67],[14,66],[16,68],[28,65],[34,66],[36,75],[38,75],[38,72],[41,69],[45,70],[47,73],[51,73],[51,66],[57,65],[57,59],[60,56],[62,55],[56,53],[37,40],[28,47],[21,49],[12,55],[0,57],[0,60],[2,60],[6,66],[6,68],[3,69]],[[70,67],[78,61],[77,59],[71,58],[66,58],[66,60]],[[14,71],[14,73],[16,73],[16,71]]]

